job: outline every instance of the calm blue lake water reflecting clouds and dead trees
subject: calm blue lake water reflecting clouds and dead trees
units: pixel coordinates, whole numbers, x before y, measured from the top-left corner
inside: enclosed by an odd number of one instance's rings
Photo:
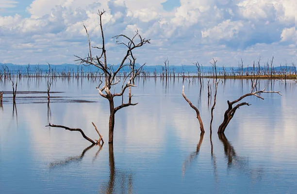
[[[201,112],[203,137],[182,84]],[[47,94],[36,92],[46,91],[44,79],[18,81],[17,90],[27,92],[17,94],[15,108],[4,94],[0,109],[0,193],[296,194],[297,83],[261,81],[260,89],[283,96],[247,97],[252,105],[240,108],[218,136],[227,99],[250,92],[250,81],[220,82],[212,138],[206,84],[200,93],[197,81],[139,80],[132,89],[139,104],[116,113],[114,146],[100,148],[88,147],[78,132],[45,127],[81,128],[98,139],[93,121],[107,142],[109,110],[98,81],[54,81],[51,91],[62,93],[51,94],[49,106]],[[1,81],[2,90],[12,91],[11,83]]]

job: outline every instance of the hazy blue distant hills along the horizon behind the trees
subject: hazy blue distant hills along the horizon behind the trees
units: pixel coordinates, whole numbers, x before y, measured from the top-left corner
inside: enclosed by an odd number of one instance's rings
[[[139,64],[136,64],[136,67],[139,67]],[[116,69],[118,65],[113,65],[112,68]],[[15,65],[15,64],[1,64],[0,63],[0,71],[3,72],[3,68],[8,68],[9,71],[11,72],[27,72],[27,68],[29,68],[29,72],[35,72],[36,70],[40,70],[44,73],[46,73],[49,70],[49,65]],[[74,65],[74,64],[61,64],[61,65],[50,65],[51,69],[54,69],[56,72],[63,72],[63,71],[70,71],[70,72],[97,72],[99,71],[99,68],[93,65],[89,66],[84,66],[84,65]],[[143,69],[147,72],[157,72],[161,73],[163,69],[165,69],[164,65],[145,65]],[[196,73],[197,72],[197,67],[195,65],[169,65],[169,71],[173,72],[173,69],[176,73],[180,72],[185,72],[185,73]],[[260,67],[260,70],[263,71],[265,68]],[[287,72],[292,72],[296,71],[296,67],[293,66],[277,66],[273,67],[273,70],[276,71],[287,71]],[[123,71],[128,71],[128,67],[125,67]],[[258,68],[255,67],[255,72],[257,72]],[[216,67],[217,72],[224,72],[223,67],[217,66]],[[238,67],[225,67],[225,71],[228,73],[231,72],[238,72]],[[241,69],[239,69],[241,72]],[[253,67],[244,67],[243,68],[244,72],[252,72]],[[201,67],[201,72],[213,72],[213,67],[212,66],[202,66]]]

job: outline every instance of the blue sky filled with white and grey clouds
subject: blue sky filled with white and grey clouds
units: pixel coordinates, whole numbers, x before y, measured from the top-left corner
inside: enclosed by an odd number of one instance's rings
[[[83,24],[102,44],[98,10],[108,64],[125,55],[112,37],[136,30],[151,40],[135,50],[139,64],[297,62],[296,0],[0,0],[0,63],[75,64],[88,55]]]

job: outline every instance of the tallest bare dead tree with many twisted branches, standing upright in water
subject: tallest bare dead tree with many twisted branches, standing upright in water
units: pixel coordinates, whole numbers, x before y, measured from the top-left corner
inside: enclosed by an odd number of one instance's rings
[[[126,53],[124,54],[124,57],[122,58],[122,61],[120,62],[119,66],[114,69],[112,65],[108,65],[107,57],[106,57],[106,49],[105,49],[105,39],[104,39],[104,33],[103,33],[103,27],[102,27],[102,15],[105,13],[105,11],[101,12],[99,11],[99,27],[102,37],[102,45],[100,47],[91,47],[90,37],[89,33],[87,31],[87,28],[84,26],[85,32],[88,36],[88,42],[89,42],[89,51],[88,56],[85,58],[76,56],[78,59],[76,61],[80,62],[84,65],[94,65],[98,67],[101,71],[103,71],[103,81],[100,81],[99,86],[97,87],[99,91],[99,95],[101,97],[104,97],[109,102],[109,108],[110,108],[110,116],[109,116],[109,140],[108,143],[113,143],[114,141],[114,127],[115,127],[115,113],[128,106],[134,106],[137,103],[132,103],[131,97],[131,87],[135,87],[134,79],[141,73],[142,66],[139,68],[135,67],[135,60],[136,57],[132,54],[132,51],[136,48],[142,47],[143,45],[150,43],[149,39],[143,38],[139,32],[136,30],[135,34],[130,38],[124,34],[116,35],[113,38],[116,40],[116,44],[122,45],[126,48]],[[100,52],[97,55],[94,55],[92,53],[93,49],[99,49]],[[122,78],[122,87],[121,91],[118,93],[113,93],[115,91],[115,86],[121,81],[119,78],[119,72],[124,69],[129,69],[129,73]],[[103,84],[102,84],[103,83]],[[101,86],[102,85],[102,86]],[[129,90],[129,98],[128,102],[124,102],[124,93],[126,90]],[[118,106],[115,106],[114,98],[115,97],[122,97],[122,103]]]

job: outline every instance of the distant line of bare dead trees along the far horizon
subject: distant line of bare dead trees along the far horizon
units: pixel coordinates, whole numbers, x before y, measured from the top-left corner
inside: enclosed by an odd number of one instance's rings
[[[96,47],[94,47],[96,48]],[[92,48],[92,49],[94,49]],[[98,49],[98,48],[97,48]],[[215,62],[215,63],[214,63]],[[176,67],[171,65],[169,66],[168,58],[164,60],[164,66],[160,72],[155,71],[149,72],[148,70],[142,70],[142,74],[139,74],[137,77],[142,78],[250,78],[255,75],[260,75],[261,79],[280,79],[286,81],[287,79],[296,79],[297,77],[297,68],[294,62],[291,65],[288,65],[285,62],[284,65],[280,65],[280,68],[276,69],[273,65],[274,57],[271,60],[268,60],[263,65],[261,65],[261,58],[259,58],[258,62],[253,62],[251,65],[244,65],[244,60],[241,58],[240,62],[238,62],[238,67],[234,68],[231,67],[229,71],[226,70],[226,67],[223,65],[222,68],[218,68],[216,65],[217,60],[214,58],[210,62],[212,65],[211,71],[205,71],[202,68],[198,67],[198,72],[187,72],[182,65],[182,69],[177,71]],[[196,63],[194,63],[196,65]],[[200,65],[200,64],[199,64]],[[50,72],[44,70],[39,65],[34,66],[31,68],[32,65],[26,66],[26,71],[23,69],[9,70],[7,65],[2,65],[0,68],[0,79],[10,79],[13,78],[47,78],[48,76],[51,78],[62,78],[62,79],[69,79],[69,78],[88,78],[94,79],[103,77],[104,71],[98,68],[96,71],[87,70],[83,68],[87,66],[86,64],[80,64],[76,67],[76,71],[74,68],[64,68],[62,70],[57,70],[57,66],[54,65],[54,68],[50,69]],[[110,68],[114,68],[113,65],[108,65]],[[244,67],[246,66],[246,67]],[[202,67],[202,65],[200,65]],[[112,70],[114,71],[114,69]],[[125,78],[130,73],[130,70],[127,68],[121,68],[121,70],[117,73],[118,78]],[[50,74],[50,75],[49,75]]]

